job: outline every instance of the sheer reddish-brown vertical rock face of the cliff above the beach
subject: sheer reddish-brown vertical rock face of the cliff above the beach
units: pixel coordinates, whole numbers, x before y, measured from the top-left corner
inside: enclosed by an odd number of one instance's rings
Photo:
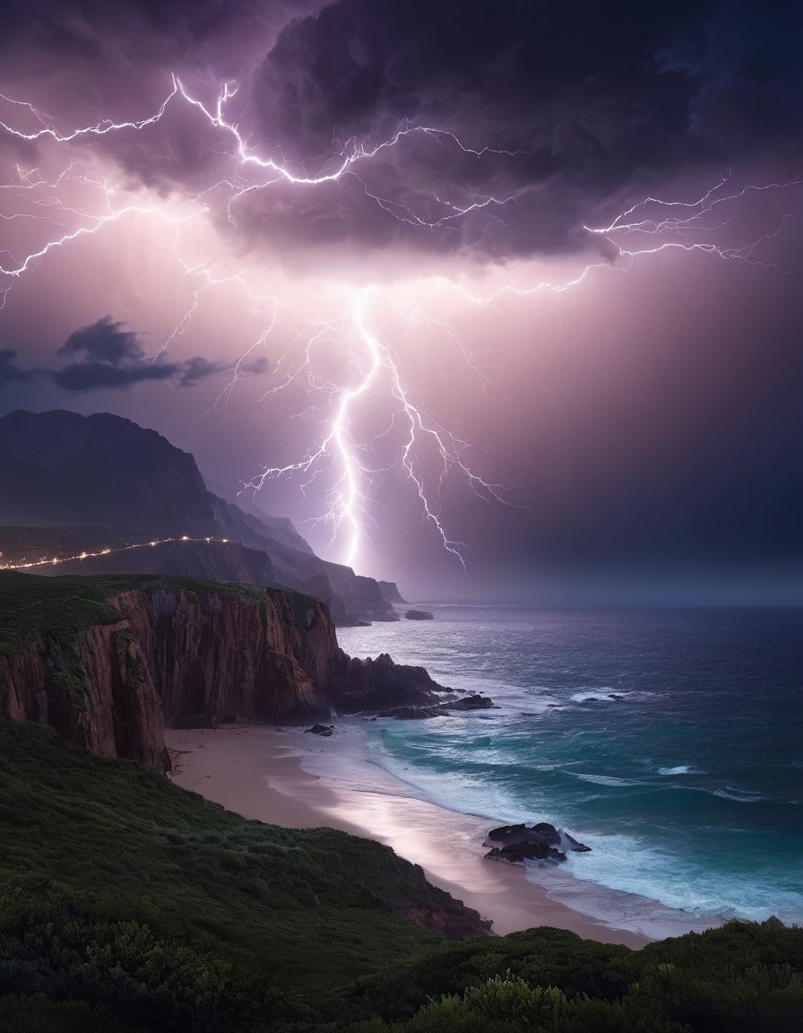
[[[165,585],[107,601],[119,623],[31,637],[22,655],[0,655],[12,718],[165,770],[165,724],[329,715],[324,690],[343,654],[319,600]]]

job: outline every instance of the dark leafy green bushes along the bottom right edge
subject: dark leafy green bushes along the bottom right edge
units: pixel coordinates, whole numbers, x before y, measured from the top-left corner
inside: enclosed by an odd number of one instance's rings
[[[803,930],[733,921],[632,951],[536,929],[426,950],[350,996],[382,1015],[354,1033],[800,1033]]]

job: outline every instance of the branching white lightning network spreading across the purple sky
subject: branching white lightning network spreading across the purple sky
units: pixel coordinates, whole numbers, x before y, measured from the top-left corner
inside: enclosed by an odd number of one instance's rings
[[[517,201],[515,192],[504,196],[477,196],[468,204],[432,195],[428,211],[416,210],[406,199],[387,197],[371,188],[362,169],[368,168],[384,153],[399,149],[416,138],[433,140],[443,148],[454,148],[477,159],[487,153],[515,157],[521,154],[519,151],[472,148],[448,128],[406,123],[379,143],[358,140],[354,136],[336,142],[336,153],[322,160],[316,171],[310,173],[303,163],[285,160],[280,148],[269,149],[271,156],[265,154],[261,142],[255,144],[251,140],[228,114],[237,94],[236,84],[225,83],[218,90],[214,102],[205,103],[178,75],[172,75],[164,98],[151,114],[131,121],[101,119],[64,132],[56,128],[51,116],[33,104],[0,94],[0,101],[5,102],[17,116],[10,121],[0,121],[0,133],[12,142],[39,145],[47,149],[49,154],[60,154],[74,145],[113,134],[148,133],[175,105],[182,104],[197,114],[201,124],[220,136],[223,146],[219,157],[225,168],[225,175],[214,179],[202,191],[186,191],[176,196],[173,190],[163,197],[154,196],[153,192],[149,194],[144,188],[134,188],[125,178],[108,169],[103,170],[100,159],[72,159],[50,176],[40,167],[18,165],[12,182],[0,185],[0,202],[4,201],[6,207],[5,212],[0,211],[0,219],[13,227],[19,239],[15,246],[9,244],[0,251],[0,308],[6,304],[11,288],[55,251],[73,246],[82,238],[100,233],[123,220],[159,220],[172,230],[174,258],[187,279],[188,288],[170,295],[170,300],[181,299],[182,312],[172,328],[166,332],[155,359],[176,339],[190,334],[206,293],[224,288],[236,289],[245,299],[248,315],[244,330],[249,344],[216,400],[215,407],[225,408],[249,359],[271,340],[280,320],[281,304],[276,293],[254,286],[254,278],[248,270],[227,271],[225,267],[229,256],[225,256],[224,260],[214,248],[200,258],[191,257],[185,246],[187,229],[199,222],[208,224],[214,221],[214,199],[223,198],[226,219],[235,225],[239,205],[251,194],[269,190],[277,184],[285,184],[295,190],[315,190],[348,176],[383,212],[416,230],[430,232],[464,221],[480,212],[488,218],[501,220],[505,225],[506,212]],[[25,121],[30,124],[28,128],[21,127]],[[720,259],[761,264],[782,273],[800,272],[762,257],[764,246],[778,238],[788,225],[788,214],[782,214],[769,228],[748,234],[746,240],[742,237],[736,243],[724,244],[720,237],[736,233],[743,214],[740,206],[749,205],[752,197],[762,194],[792,191],[801,183],[803,180],[797,177],[782,182],[731,188],[730,178],[722,177],[693,200],[647,197],[627,208],[605,225],[583,227],[589,250],[599,254],[600,248],[595,248],[593,242],[604,240],[614,255],[611,259],[595,257],[580,262],[575,273],[559,279],[526,282],[525,278],[522,283],[506,282],[485,292],[478,292],[465,283],[444,283],[451,289],[461,291],[471,303],[488,305],[506,293],[561,293],[577,287],[596,270],[613,268],[627,271],[642,256],[669,249],[700,251]],[[83,202],[69,201],[70,191],[81,195]],[[45,230],[44,240],[26,247],[26,228],[32,229],[34,234]],[[21,251],[20,256],[15,256],[18,251]],[[444,549],[465,568],[468,546],[450,537],[441,513],[440,490],[446,478],[452,472],[456,473],[475,494],[488,500],[506,503],[507,493],[502,486],[474,472],[468,459],[470,443],[441,426],[412,397],[404,377],[404,362],[374,328],[372,304],[380,289],[376,286],[363,290],[343,287],[343,311],[335,318],[321,318],[300,330],[294,342],[274,363],[275,384],[261,401],[265,402],[269,396],[282,390],[301,390],[310,395],[313,402],[298,413],[298,418],[306,425],[317,420],[321,431],[315,443],[301,449],[297,458],[289,458],[283,465],[264,467],[261,473],[244,484],[244,489],[257,492],[274,478],[293,478],[303,492],[323,475],[329,487],[327,508],[320,520],[329,526],[332,542],[335,538],[345,541],[345,562],[353,564],[357,559],[365,558],[364,543],[370,540],[367,529],[375,520],[373,486],[379,474],[387,473],[387,468],[378,466],[377,461],[372,460],[371,445],[380,440],[392,440],[396,442],[397,467],[412,487],[423,518],[431,525]],[[438,326],[458,341],[456,334],[439,315],[415,310],[402,312],[397,308],[395,311],[419,325]],[[294,347],[299,340],[300,358],[297,356],[298,349]],[[319,365],[326,368],[325,363],[320,364],[321,353],[330,355],[332,350],[345,356],[346,373],[334,376],[317,372]],[[462,355],[482,385],[487,387],[488,381],[474,356],[464,348]],[[366,421],[368,403],[379,396],[385,399],[385,426],[366,440],[359,428]],[[439,470],[433,484],[432,460]]]

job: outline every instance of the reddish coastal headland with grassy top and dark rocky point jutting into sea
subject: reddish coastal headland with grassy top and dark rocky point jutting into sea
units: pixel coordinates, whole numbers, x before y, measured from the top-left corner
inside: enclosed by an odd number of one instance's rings
[[[437,705],[443,688],[338,646],[317,598],[187,577],[0,572],[0,712],[167,770],[164,727]]]

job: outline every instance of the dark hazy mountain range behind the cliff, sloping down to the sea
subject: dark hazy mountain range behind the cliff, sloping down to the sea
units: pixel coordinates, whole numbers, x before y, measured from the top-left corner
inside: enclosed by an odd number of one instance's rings
[[[61,409],[10,412],[0,418],[0,525],[6,532],[0,532],[0,551],[6,561],[8,540],[22,528],[30,550],[49,555],[35,540],[38,528],[59,559],[76,555],[66,544],[75,547],[70,529],[76,527],[94,529],[77,555],[96,551],[91,546],[98,529],[118,537],[126,532],[130,543],[180,539],[150,550],[116,547],[58,571],[162,572],[285,585],[323,599],[341,625],[397,619],[374,578],[321,560],[286,518],[259,514],[255,506],[246,511],[214,494],[189,452],[129,419]],[[63,549],[56,528],[63,531]],[[181,541],[184,537],[211,540]]]

